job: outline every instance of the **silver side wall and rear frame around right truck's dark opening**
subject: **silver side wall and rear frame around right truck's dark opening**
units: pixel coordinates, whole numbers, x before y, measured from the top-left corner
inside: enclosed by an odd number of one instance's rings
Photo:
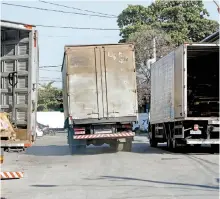
[[[190,56],[201,55],[202,49],[219,48],[216,44],[184,44],[152,65],[151,124],[177,120],[211,120],[187,118],[187,49]]]

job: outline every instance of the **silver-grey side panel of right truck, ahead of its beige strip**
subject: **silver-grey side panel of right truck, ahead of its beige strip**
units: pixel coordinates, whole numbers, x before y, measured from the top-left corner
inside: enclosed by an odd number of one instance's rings
[[[171,52],[152,65],[151,124],[174,120],[174,60]]]

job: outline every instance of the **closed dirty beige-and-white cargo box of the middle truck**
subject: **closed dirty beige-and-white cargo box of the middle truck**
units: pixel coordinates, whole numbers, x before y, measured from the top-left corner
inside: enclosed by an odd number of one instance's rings
[[[134,46],[65,46],[62,67],[65,118],[76,124],[137,118]]]

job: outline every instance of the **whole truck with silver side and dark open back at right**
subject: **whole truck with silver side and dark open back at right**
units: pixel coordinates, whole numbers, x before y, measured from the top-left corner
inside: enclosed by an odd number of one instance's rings
[[[152,65],[150,145],[219,148],[219,45],[181,45]]]

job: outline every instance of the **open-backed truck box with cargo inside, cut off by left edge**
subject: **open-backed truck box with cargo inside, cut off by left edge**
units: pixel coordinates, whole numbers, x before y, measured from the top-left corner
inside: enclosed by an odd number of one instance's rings
[[[1,147],[22,149],[36,138],[39,70],[34,25],[1,20]]]

